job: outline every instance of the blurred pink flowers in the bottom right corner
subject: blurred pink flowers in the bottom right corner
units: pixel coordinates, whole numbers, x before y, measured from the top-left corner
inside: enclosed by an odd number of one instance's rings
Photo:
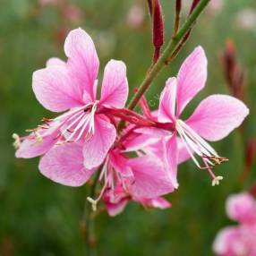
[[[239,225],[226,227],[218,233],[213,244],[214,252],[220,256],[255,256],[256,201],[252,195],[243,192],[229,196],[226,213]]]

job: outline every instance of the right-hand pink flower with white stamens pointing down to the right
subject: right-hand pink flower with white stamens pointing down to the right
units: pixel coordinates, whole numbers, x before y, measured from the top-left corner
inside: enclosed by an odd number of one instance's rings
[[[178,164],[178,144],[183,148],[200,169],[207,169],[212,177],[212,185],[218,184],[222,176],[212,172],[212,166],[218,165],[226,158],[219,157],[206,141],[218,141],[226,137],[242,124],[249,114],[242,101],[226,96],[211,95],[201,101],[190,118],[183,121],[180,116],[186,105],[202,90],[207,79],[207,58],[201,47],[196,47],[183,62],[177,77],[169,78],[162,91],[158,109],[158,123],[172,124],[175,132],[166,131],[163,139],[164,161],[170,175],[176,176]],[[140,129],[145,132],[144,129]],[[146,128],[146,132],[150,129]],[[151,134],[154,130],[151,129]],[[178,142],[179,141],[179,142]],[[186,158],[183,155],[184,159]],[[197,158],[201,158],[200,160]]]

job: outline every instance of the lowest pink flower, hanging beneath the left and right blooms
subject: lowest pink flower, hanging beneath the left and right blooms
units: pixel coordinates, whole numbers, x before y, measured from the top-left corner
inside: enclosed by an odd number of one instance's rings
[[[81,141],[55,146],[41,158],[39,170],[56,183],[80,186],[97,171],[97,168],[89,170],[85,167],[87,158],[82,151]],[[158,201],[158,196],[174,191],[161,162],[148,156],[126,158],[119,149],[108,152],[98,182],[102,184],[98,198],[88,198],[94,209],[102,198],[110,208],[116,204],[119,209],[130,199],[145,206],[164,208],[167,205]]]

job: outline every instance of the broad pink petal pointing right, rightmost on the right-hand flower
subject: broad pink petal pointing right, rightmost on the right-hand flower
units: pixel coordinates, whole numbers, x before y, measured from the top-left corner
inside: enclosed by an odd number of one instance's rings
[[[218,141],[242,124],[248,114],[249,109],[241,100],[226,95],[211,95],[201,101],[186,124],[206,140]]]

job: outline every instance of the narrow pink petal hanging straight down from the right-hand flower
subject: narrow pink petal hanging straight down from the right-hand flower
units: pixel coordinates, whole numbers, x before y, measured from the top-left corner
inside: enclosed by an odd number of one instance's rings
[[[166,137],[163,140],[163,147],[163,162],[166,173],[176,189],[179,186],[177,182],[178,148],[176,134]]]

